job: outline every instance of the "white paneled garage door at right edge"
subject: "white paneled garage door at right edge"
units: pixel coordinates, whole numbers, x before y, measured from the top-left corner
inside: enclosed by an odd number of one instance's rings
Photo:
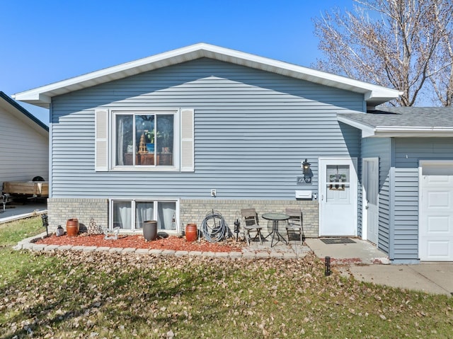
[[[453,162],[423,162],[420,190],[420,260],[452,261]]]

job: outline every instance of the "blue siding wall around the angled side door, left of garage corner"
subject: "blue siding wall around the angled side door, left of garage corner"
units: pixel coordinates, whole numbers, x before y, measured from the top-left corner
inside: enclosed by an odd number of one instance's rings
[[[379,158],[379,235],[378,248],[387,254],[391,251],[391,139],[362,139],[362,158]]]

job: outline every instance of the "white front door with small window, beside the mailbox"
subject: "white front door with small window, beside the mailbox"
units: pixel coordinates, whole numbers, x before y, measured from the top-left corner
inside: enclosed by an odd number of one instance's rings
[[[319,159],[319,235],[357,235],[357,171],[350,158]]]

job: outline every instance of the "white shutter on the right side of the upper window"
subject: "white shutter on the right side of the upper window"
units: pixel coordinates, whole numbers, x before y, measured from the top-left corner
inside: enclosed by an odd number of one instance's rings
[[[193,109],[181,109],[181,172],[195,171],[193,120]]]

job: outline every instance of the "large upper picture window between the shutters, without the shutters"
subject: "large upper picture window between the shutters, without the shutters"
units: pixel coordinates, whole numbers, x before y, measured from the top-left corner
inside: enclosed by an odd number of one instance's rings
[[[174,113],[116,113],[115,166],[174,166]]]

